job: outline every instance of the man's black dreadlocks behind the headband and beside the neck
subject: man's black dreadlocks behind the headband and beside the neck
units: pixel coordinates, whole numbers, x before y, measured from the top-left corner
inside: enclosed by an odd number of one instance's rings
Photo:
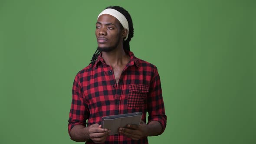
[[[128,26],[129,26],[128,38],[123,42],[123,47],[124,47],[125,51],[130,51],[130,41],[131,41],[131,38],[133,37],[133,33],[134,33],[133,24],[132,24],[130,14],[123,7],[119,7],[119,6],[110,6],[110,7],[106,7],[105,9],[115,9],[115,10],[117,10],[118,12],[123,14],[125,16],[126,20],[128,21]],[[94,63],[97,60],[98,55],[100,54],[100,52],[101,51],[98,50],[98,49],[95,51],[95,53],[92,56],[90,64],[94,65]]]

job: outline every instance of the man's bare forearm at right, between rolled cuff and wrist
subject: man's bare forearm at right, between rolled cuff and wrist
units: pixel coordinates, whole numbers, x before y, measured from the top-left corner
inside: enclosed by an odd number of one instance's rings
[[[156,136],[161,134],[163,128],[161,124],[158,121],[151,121],[150,123],[147,124],[147,131],[148,134],[147,136]]]

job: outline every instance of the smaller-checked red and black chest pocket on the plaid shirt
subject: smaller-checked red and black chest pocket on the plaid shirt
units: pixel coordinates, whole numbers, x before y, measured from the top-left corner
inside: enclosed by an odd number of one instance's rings
[[[140,108],[144,106],[144,101],[149,92],[147,85],[129,85],[128,107]]]

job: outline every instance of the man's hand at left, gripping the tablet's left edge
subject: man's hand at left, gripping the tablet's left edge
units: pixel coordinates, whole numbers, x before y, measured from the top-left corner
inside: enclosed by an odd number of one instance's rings
[[[89,137],[94,143],[104,143],[110,133],[110,130],[101,127],[102,125],[92,124],[88,128]]]

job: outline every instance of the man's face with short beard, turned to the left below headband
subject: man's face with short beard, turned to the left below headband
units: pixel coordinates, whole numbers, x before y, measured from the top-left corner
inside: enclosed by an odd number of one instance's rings
[[[108,14],[98,17],[96,23],[95,35],[97,38],[98,49],[109,52],[122,44],[124,36],[122,35],[121,23]]]

